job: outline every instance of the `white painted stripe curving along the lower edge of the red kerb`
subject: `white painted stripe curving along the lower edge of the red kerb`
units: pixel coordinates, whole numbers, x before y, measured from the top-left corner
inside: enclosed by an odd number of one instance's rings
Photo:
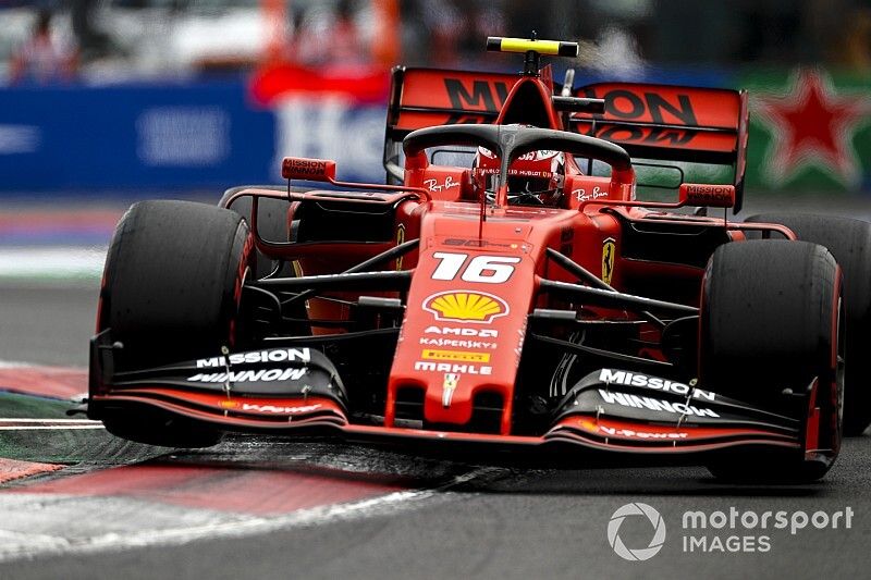
[[[96,552],[124,551],[157,545],[181,545],[198,540],[216,538],[241,538],[268,533],[292,528],[323,526],[336,521],[346,521],[373,516],[384,516],[414,509],[425,499],[436,496],[450,497],[451,488],[469,482],[476,478],[493,472],[495,468],[479,468],[468,473],[455,477],[445,485],[429,490],[394,492],[378,497],[370,497],[347,504],[333,504],[300,509],[292,514],[271,518],[247,517],[232,515],[221,521],[170,528],[159,530],[136,530],[130,533],[111,532],[102,535],[85,538],[64,538],[46,533],[26,533],[0,529],[0,562],[23,558],[35,558],[44,555],[71,555],[93,554]],[[447,492],[447,493],[445,493]],[[26,503],[28,494],[12,494],[17,496],[13,503]],[[51,496],[34,494],[35,501],[68,501],[76,502],[81,497]],[[10,497],[10,496],[5,496]],[[0,508],[3,506],[3,495],[0,495]],[[220,501],[220,498],[218,498]],[[26,506],[23,506],[26,508]],[[68,511],[68,515],[72,515]],[[63,529],[63,522],[58,522]],[[140,526],[140,522],[139,522]]]

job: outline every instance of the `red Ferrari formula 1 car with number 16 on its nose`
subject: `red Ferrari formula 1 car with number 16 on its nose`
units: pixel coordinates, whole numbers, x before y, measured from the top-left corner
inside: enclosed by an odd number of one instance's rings
[[[88,416],[171,446],[334,433],[822,477],[842,441],[844,336],[867,316],[842,297],[871,280],[863,257],[835,257],[868,225],[726,220],[744,92],[573,90],[539,60],[577,45],[488,47],[523,52],[524,72],[394,70],[390,185],[286,158],[286,188],[131,208],[107,258]],[[729,177],[683,183],[688,163]],[[641,168],[672,170],[677,201],[637,200]],[[869,419],[859,362],[855,430]]]

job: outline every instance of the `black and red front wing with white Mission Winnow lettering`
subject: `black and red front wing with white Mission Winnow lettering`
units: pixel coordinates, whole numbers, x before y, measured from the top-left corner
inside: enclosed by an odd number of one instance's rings
[[[168,418],[182,418],[228,432],[329,433],[349,440],[429,441],[507,448],[568,445],[579,451],[648,456],[738,447],[818,452],[807,435],[807,411],[792,409],[780,415],[706,391],[694,388],[684,394],[655,390],[650,385],[667,381],[657,383],[641,375],[647,381],[634,382],[630,372],[615,369],[601,369],[581,380],[562,400],[551,427],[542,434],[500,435],[459,432],[462,428],[458,431],[385,428],[353,419],[334,367],[314,349],[272,347],[240,354],[235,356],[241,362],[232,367],[216,357],[114,373],[107,341],[107,336],[98,335],[91,343],[87,412],[98,420],[119,409],[145,407]],[[291,354],[280,362],[268,360],[272,353],[285,350]],[[292,351],[299,355],[296,360]],[[300,355],[303,351],[305,356]]]

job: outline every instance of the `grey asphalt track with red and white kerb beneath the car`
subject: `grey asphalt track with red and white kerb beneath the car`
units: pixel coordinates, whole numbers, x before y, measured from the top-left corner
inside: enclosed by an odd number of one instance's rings
[[[0,359],[84,368],[95,297],[95,287],[0,287]],[[0,409],[16,408],[9,405],[0,397]],[[26,405],[60,417],[65,404]],[[79,427],[0,431],[5,457],[63,467],[0,483],[0,578],[798,579],[871,570],[869,436],[848,440],[820,483],[741,486],[701,468],[557,468],[331,442],[240,437],[182,452]],[[608,523],[639,502],[661,513],[666,539],[651,559],[625,562],[609,545]],[[842,518],[838,529],[809,523],[794,535],[682,527],[685,511],[732,507],[787,517],[850,508],[852,517],[849,529]],[[651,533],[643,518],[619,530],[630,547],[647,546]],[[689,536],[713,545],[735,535],[770,550],[685,548]]]

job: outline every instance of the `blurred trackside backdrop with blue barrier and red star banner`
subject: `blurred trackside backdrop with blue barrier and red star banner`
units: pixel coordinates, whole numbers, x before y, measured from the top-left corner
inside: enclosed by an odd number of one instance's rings
[[[286,155],[383,181],[390,67],[514,72],[484,38],[532,29],[581,44],[576,85],[748,89],[748,201],[863,207],[870,1],[0,0],[0,276],[90,280],[131,200]]]

